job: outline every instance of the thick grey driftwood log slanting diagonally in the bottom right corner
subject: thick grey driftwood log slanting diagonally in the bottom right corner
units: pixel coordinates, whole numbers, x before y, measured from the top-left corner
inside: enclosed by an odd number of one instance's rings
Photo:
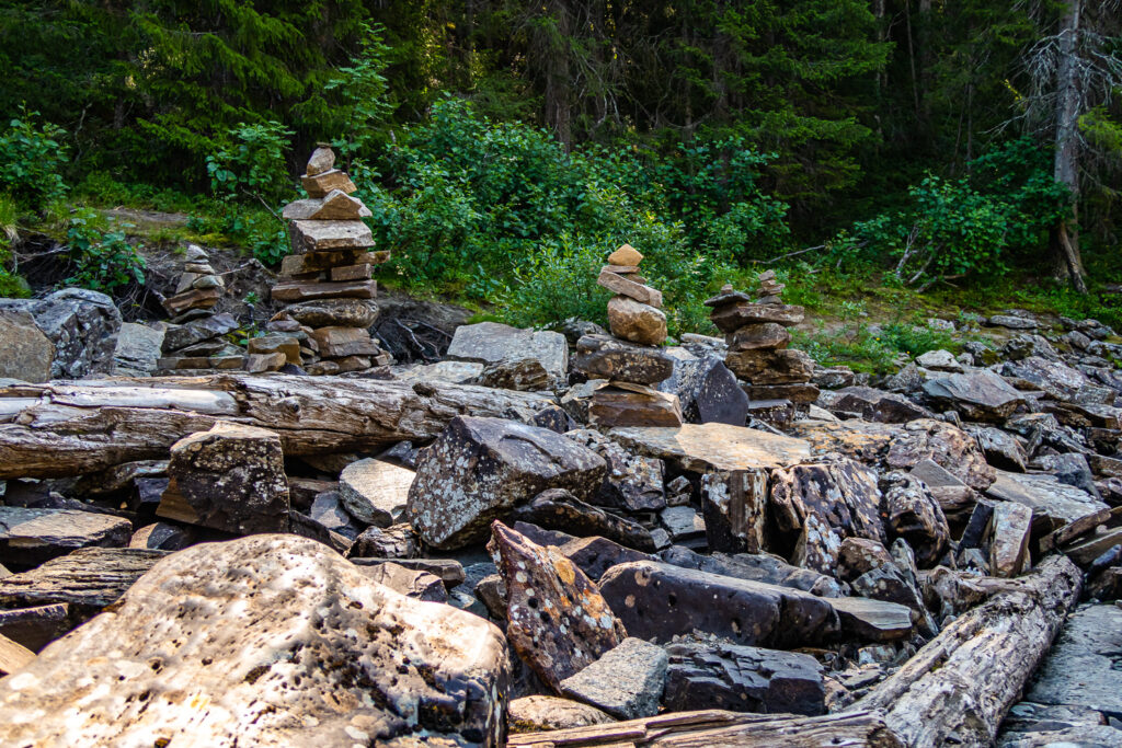
[[[991,744],[1079,599],[1079,570],[1066,556],[1019,581],[955,619],[853,709],[884,710],[917,748]]]

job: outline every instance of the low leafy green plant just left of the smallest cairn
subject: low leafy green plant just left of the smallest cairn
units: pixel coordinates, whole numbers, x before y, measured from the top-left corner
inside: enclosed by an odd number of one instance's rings
[[[96,212],[80,210],[70,220],[66,243],[74,271],[66,283],[111,294],[130,283],[144,284],[145,260],[125,231],[104,230]]]

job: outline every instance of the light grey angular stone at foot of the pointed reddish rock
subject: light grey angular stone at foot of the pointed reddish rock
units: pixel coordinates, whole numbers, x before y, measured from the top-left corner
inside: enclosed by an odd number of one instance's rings
[[[666,677],[662,647],[626,638],[591,665],[561,681],[561,692],[619,719],[654,717]]]

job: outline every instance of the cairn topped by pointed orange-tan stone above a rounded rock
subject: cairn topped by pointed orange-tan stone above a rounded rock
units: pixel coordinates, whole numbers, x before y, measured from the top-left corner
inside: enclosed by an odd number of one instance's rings
[[[574,368],[603,379],[589,404],[597,426],[681,426],[677,395],[651,387],[673,373],[673,361],[660,348],[666,340],[662,294],[638,275],[643,256],[624,244],[608,256],[597,283],[616,295],[608,302],[609,335],[577,341]]]

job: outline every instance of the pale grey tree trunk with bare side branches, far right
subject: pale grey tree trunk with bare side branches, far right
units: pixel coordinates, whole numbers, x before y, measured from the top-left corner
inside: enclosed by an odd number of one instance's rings
[[[1056,157],[1055,179],[1072,191],[1074,206],[1079,204],[1079,112],[1082,82],[1079,80],[1079,19],[1083,0],[1067,0],[1059,31],[1059,64],[1056,70]],[[1076,207],[1077,210],[1077,207]],[[1079,255],[1077,224],[1061,222],[1056,230],[1052,251],[1063,260],[1072,285],[1079,293],[1087,293],[1083,258]]]

